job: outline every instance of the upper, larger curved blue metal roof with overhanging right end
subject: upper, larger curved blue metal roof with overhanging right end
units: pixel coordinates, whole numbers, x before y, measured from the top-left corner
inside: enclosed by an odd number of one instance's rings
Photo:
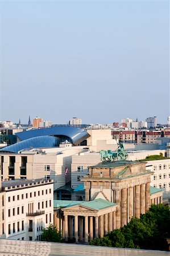
[[[16,133],[16,136],[20,139],[20,141],[45,135],[56,137],[68,137],[71,139],[71,142],[74,145],[80,144],[82,141],[85,141],[85,139],[90,137],[87,131],[72,126],[56,126]]]

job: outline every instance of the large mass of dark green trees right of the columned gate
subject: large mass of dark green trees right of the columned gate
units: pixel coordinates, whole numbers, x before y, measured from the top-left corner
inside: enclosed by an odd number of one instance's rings
[[[159,204],[152,205],[140,218],[132,218],[123,228],[94,238],[90,245],[167,250],[166,237],[170,237],[169,206]]]

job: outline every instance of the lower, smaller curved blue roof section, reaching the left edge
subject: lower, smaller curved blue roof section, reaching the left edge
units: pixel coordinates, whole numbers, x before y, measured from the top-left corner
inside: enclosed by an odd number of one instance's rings
[[[55,147],[60,143],[60,139],[51,136],[41,136],[26,139],[25,141],[20,141],[18,143],[12,144],[7,147],[3,147],[0,151],[18,153],[20,150],[30,149],[30,148],[40,148],[40,147]]]

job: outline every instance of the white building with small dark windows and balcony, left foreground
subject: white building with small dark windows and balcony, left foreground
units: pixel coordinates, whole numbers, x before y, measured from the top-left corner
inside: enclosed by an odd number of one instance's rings
[[[0,198],[0,238],[40,240],[53,224],[53,180],[3,181]]]

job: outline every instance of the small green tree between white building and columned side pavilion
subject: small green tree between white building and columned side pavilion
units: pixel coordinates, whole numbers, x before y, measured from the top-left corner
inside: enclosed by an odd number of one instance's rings
[[[55,226],[49,224],[48,228],[42,230],[42,241],[60,242],[61,232],[59,232]]]

